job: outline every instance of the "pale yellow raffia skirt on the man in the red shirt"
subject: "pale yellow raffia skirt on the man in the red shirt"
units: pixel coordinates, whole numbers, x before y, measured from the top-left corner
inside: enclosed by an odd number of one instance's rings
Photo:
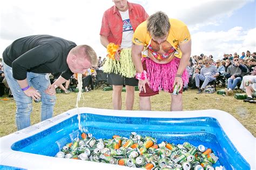
[[[136,74],[136,69],[132,62],[131,48],[124,48],[120,52],[120,60],[106,58],[103,65],[104,73],[120,74],[124,77],[132,78]]]

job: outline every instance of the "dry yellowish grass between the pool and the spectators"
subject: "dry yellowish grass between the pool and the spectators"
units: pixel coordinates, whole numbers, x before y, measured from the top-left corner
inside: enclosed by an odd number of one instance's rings
[[[102,88],[99,88],[89,93],[83,93],[83,96],[84,100],[82,97],[79,107],[112,109],[112,91],[103,91]],[[136,91],[135,96],[133,110],[139,110],[138,91]],[[122,109],[125,109],[124,97],[125,93],[123,92]],[[15,125],[15,101],[10,99],[5,101],[4,98],[9,99],[8,97],[0,97],[0,137],[17,131]],[[57,94],[54,115],[75,108],[76,98],[77,93],[73,92],[68,95]],[[171,95],[166,92],[160,92],[159,95],[151,97],[151,103],[152,110],[170,111]],[[217,93],[199,95],[197,94],[197,90],[188,90],[183,94],[183,110],[203,109],[218,109],[230,113],[256,137],[255,104],[244,103],[242,100],[236,100],[234,96],[221,96],[217,95]],[[40,110],[41,104],[33,102],[31,124],[36,124],[40,121]],[[226,121],[228,123],[228,120]]]

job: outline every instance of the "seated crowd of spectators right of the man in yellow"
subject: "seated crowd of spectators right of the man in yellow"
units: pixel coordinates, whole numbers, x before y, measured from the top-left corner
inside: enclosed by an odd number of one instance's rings
[[[194,55],[187,65],[190,81],[185,84],[184,91],[190,88],[198,88],[198,94],[202,93],[206,86],[215,81],[225,88],[226,95],[233,95],[233,90],[240,88],[246,91],[255,91],[255,65],[256,52],[242,52],[239,56],[236,52],[224,54],[223,59],[214,61],[213,56]],[[247,82],[247,83],[246,83]],[[250,82],[250,83],[248,83]],[[250,90],[248,89],[250,86]],[[246,100],[253,100],[251,93],[247,93]]]

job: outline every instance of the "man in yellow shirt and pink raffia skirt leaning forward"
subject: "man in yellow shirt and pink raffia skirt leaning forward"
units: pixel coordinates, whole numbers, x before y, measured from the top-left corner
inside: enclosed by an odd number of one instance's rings
[[[150,96],[159,94],[159,89],[172,93],[172,111],[182,110],[182,87],[188,81],[186,66],[191,55],[187,26],[159,11],[137,27],[132,42],[140,110],[151,110]]]

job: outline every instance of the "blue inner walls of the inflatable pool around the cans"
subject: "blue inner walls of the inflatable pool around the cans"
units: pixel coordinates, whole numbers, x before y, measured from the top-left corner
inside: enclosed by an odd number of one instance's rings
[[[211,148],[219,160],[215,166],[226,169],[250,169],[250,165],[233,146],[217,119],[198,118],[145,118],[118,117],[94,114],[81,114],[81,124],[85,132],[94,137],[112,138],[114,134],[129,137],[131,132],[142,136],[157,138],[157,143],[183,144],[185,141],[198,146],[203,144]],[[34,153],[54,157],[63,145],[77,137],[77,115],[39,132],[31,137],[19,140],[11,148],[15,151]]]

